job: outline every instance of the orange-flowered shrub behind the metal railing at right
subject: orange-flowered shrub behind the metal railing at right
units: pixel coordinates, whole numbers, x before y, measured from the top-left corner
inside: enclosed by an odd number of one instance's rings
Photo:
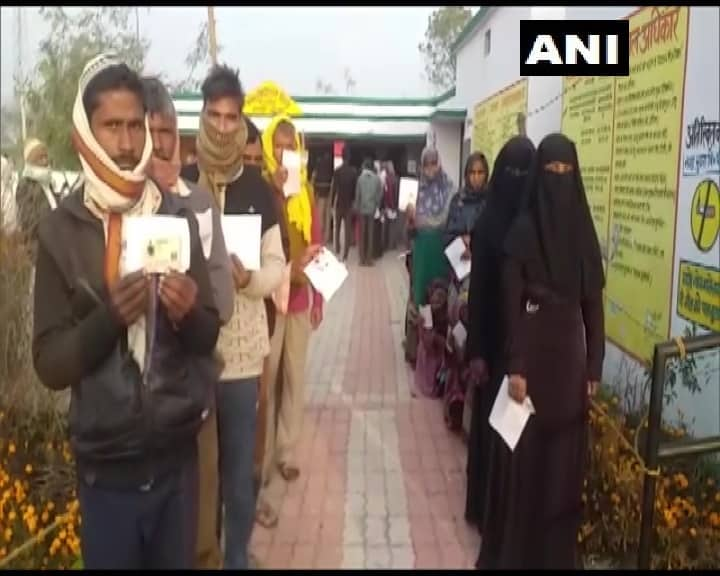
[[[586,558],[636,562],[640,539],[643,473],[614,427],[637,445],[647,424],[633,426],[616,397],[600,398],[590,415],[589,468],[583,501],[585,518],[578,542]],[[609,421],[609,420],[610,421]],[[665,427],[664,439],[687,435],[683,426]],[[717,470],[705,462],[668,462],[658,479],[653,519],[652,567],[711,569],[720,566],[720,490]]]

